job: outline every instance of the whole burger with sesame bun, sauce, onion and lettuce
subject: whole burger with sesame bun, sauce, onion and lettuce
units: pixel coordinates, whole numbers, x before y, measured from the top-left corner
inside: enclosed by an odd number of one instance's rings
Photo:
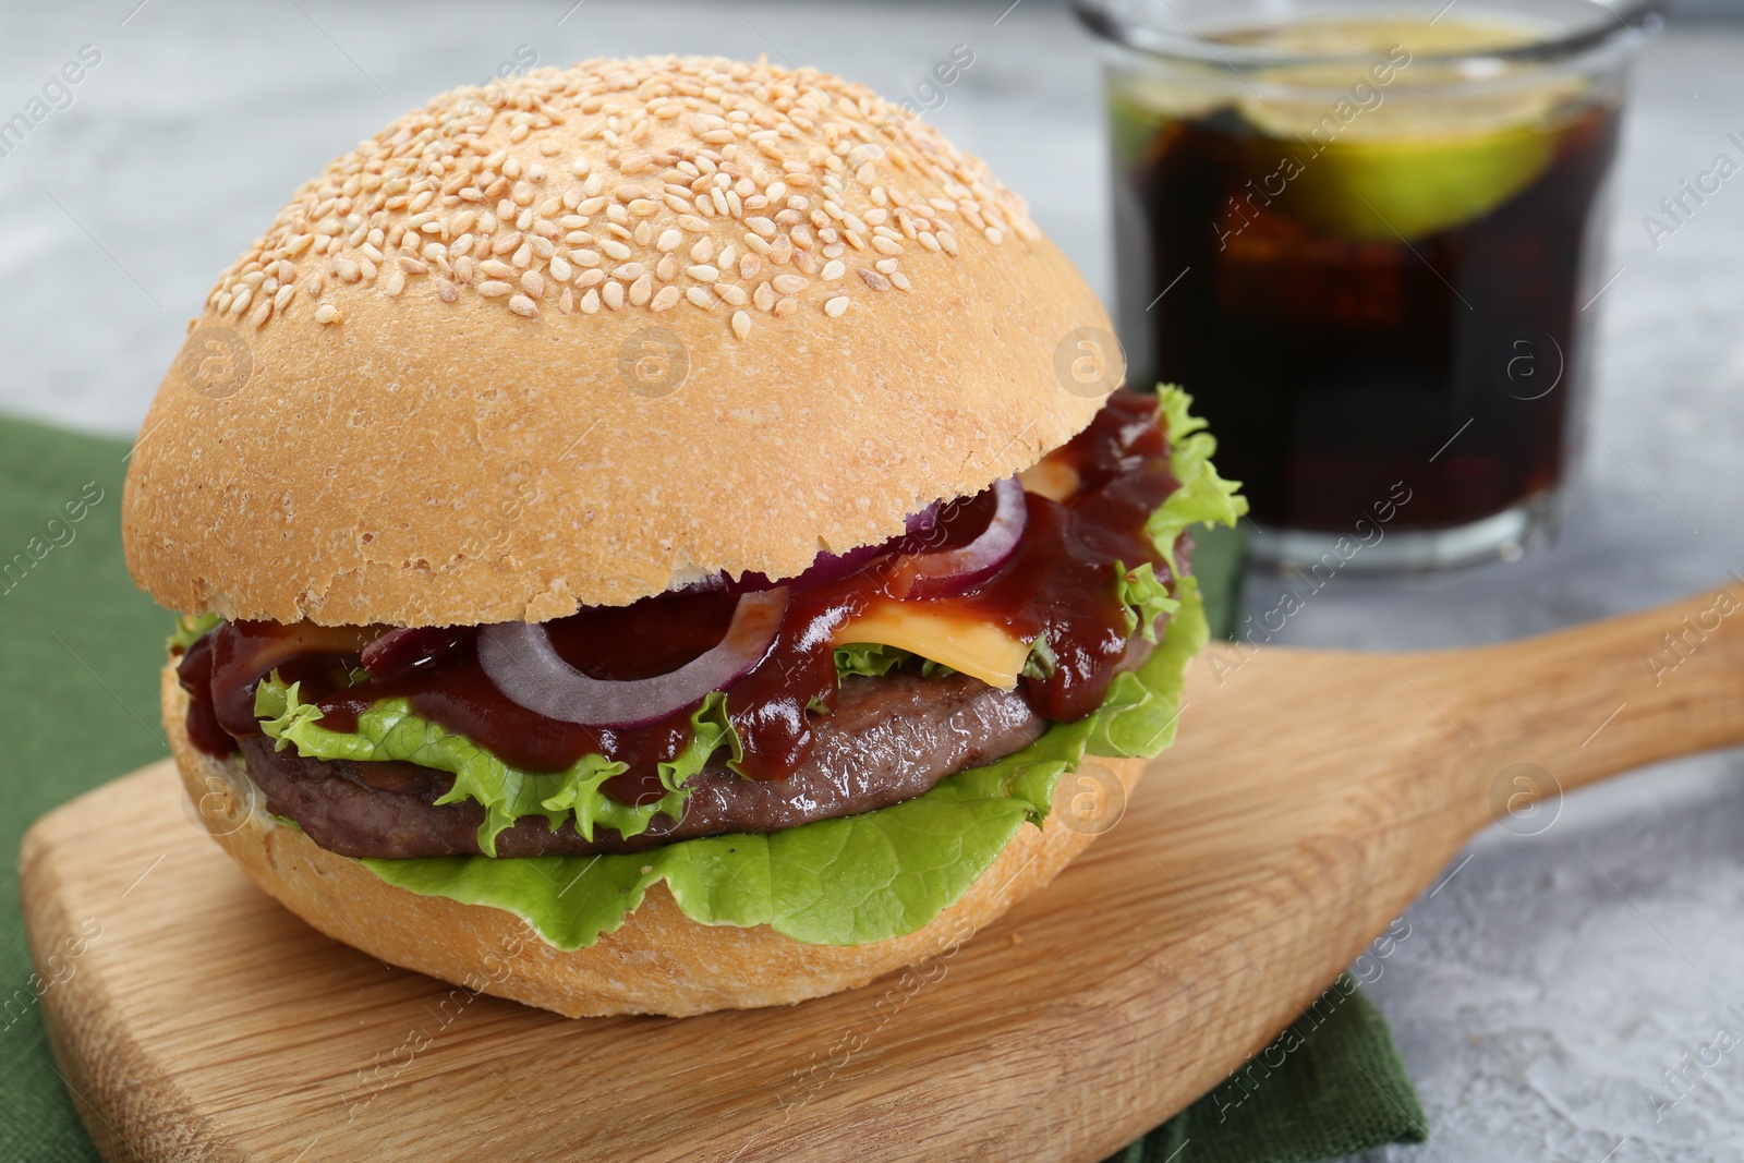
[[[1188,530],[1243,511],[1107,328],[841,78],[438,96],[220,275],[131,462],[197,818],[316,929],[572,1017],[954,949],[1170,741]]]

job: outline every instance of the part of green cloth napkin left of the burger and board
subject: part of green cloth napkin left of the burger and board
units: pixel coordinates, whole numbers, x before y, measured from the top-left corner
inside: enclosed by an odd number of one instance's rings
[[[120,558],[127,450],[0,420],[0,1160],[98,1158],[30,983],[17,844],[51,807],[169,753],[155,689],[169,621]]]

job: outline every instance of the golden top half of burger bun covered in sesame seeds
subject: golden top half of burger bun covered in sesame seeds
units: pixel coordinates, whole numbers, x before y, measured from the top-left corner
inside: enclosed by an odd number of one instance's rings
[[[1088,385],[1057,370],[1087,328]],[[1120,378],[1024,204],[870,91],[537,70],[335,159],[225,270],[133,455],[127,561],[169,609],[323,624],[787,577],[1029,467]]]

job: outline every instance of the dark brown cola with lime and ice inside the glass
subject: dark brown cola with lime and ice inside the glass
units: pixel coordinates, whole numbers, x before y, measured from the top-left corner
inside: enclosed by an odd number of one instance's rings
[[[1617,101],[1561,77],[1461,106],[1402,44],[1308,80],[1196,108],[1111,82],[1130,382],[1195,394],[1268,530],[1348,534],[1400,483],[1390,530],[1552,509]]]

